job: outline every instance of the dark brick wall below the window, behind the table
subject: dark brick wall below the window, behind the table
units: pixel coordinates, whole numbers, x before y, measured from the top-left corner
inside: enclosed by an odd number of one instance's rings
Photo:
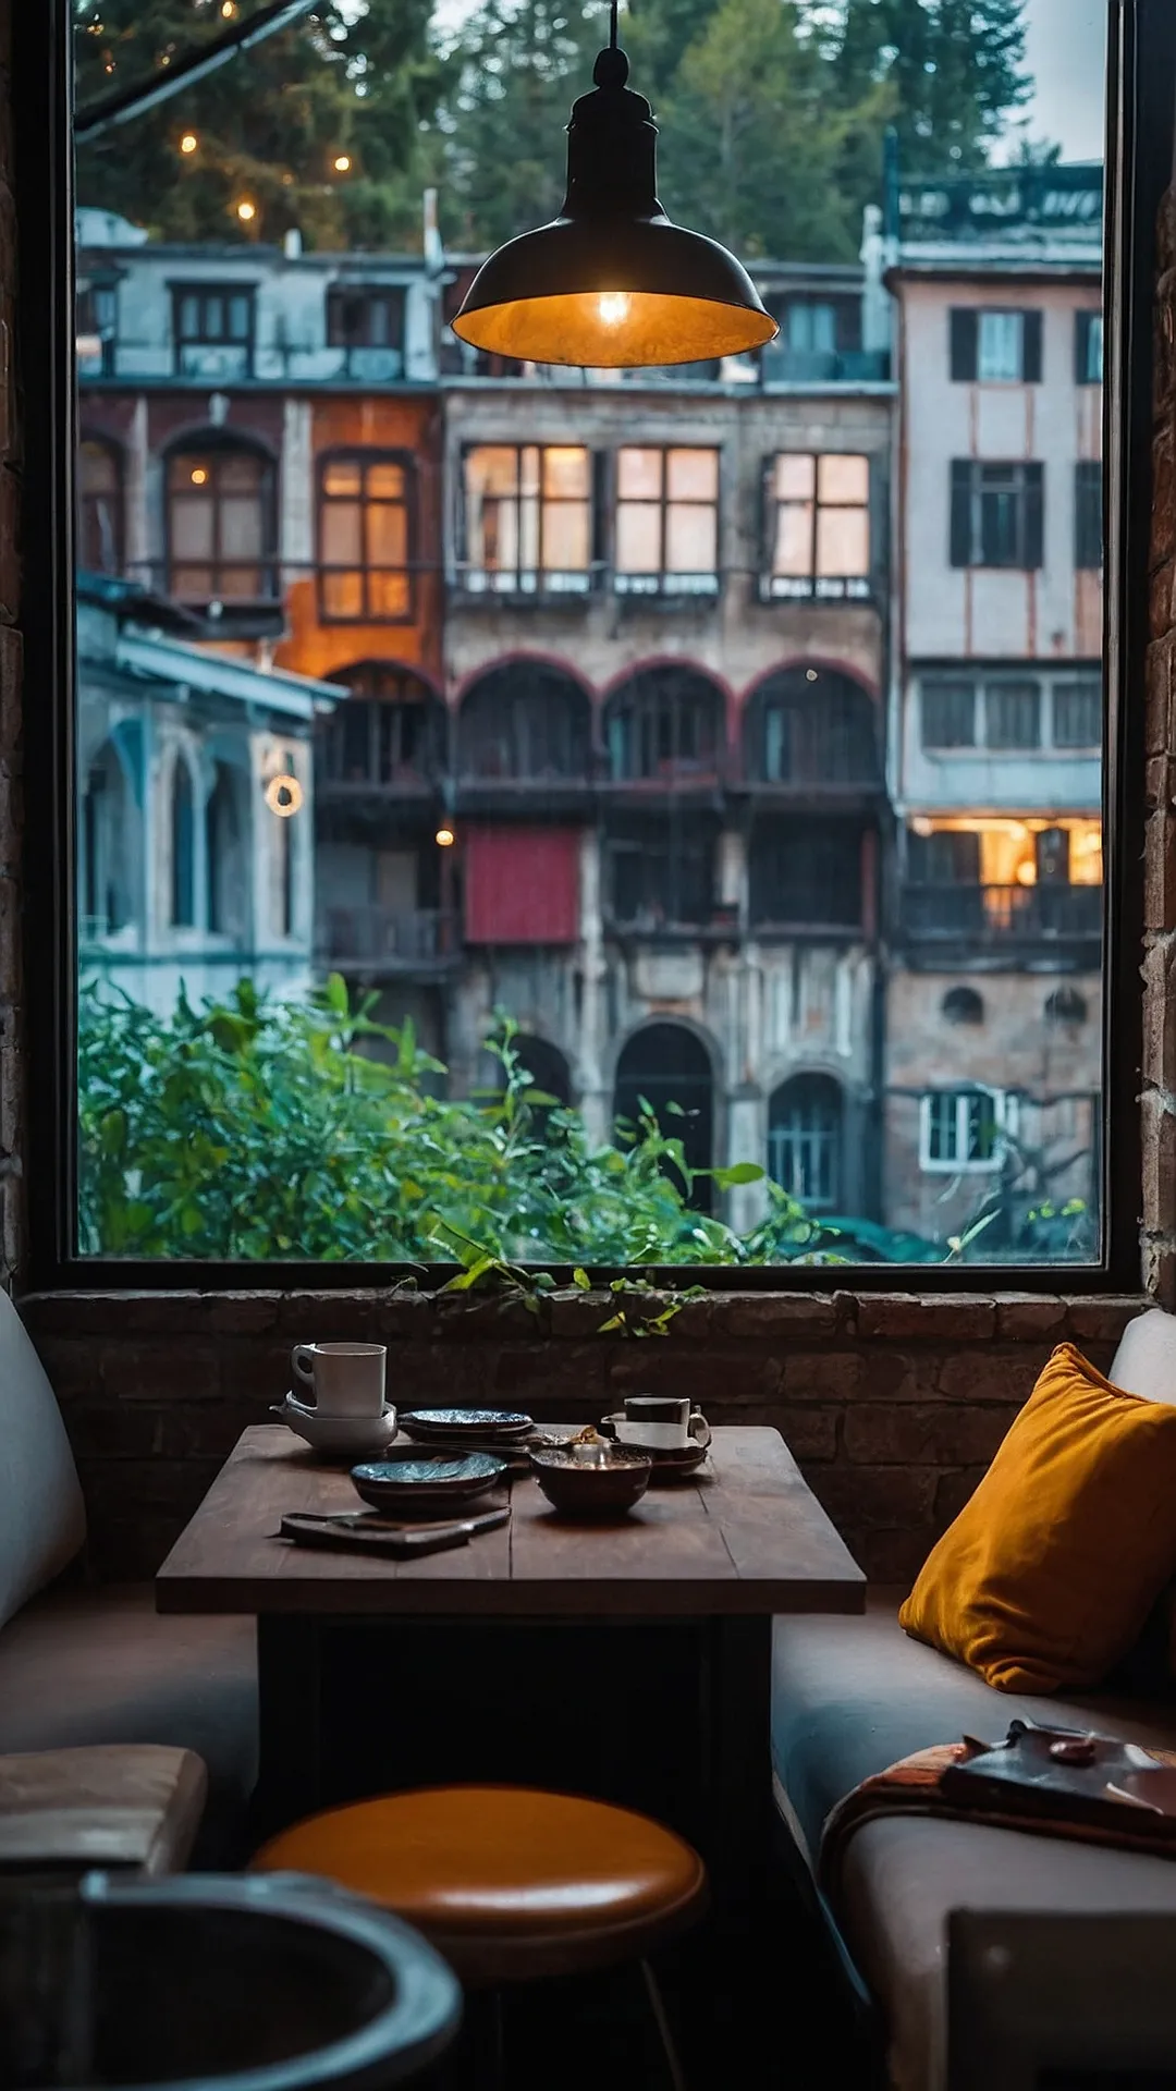
[[[866,1572],[914,1575],[1055,1342],[1107,1365],[1140,1301],[726,1294],[659,1340],[596,1336],[615,1301],[471,1307],[387,1292],[73,1294],[23,1303],[59,1393],[100,1575],[151,1575],[241,1430],[280,1401],[295,1342],[389,1345],[402,1407],[496,1401],[594,1422],[682,1393],[711,1422],[774,1424]]]

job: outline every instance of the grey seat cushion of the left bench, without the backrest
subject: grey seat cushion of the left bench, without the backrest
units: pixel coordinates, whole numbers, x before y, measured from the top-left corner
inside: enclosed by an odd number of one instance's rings
[[[209,1771],[197,1863],[245,1853],[257,1775],[251,1618],[159,1618],[149,1585],[46,1591],[0,1633],[0,1752],[149,1742]]]

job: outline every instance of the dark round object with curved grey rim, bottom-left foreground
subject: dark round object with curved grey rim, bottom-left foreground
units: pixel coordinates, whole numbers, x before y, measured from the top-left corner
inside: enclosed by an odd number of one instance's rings
[[[448,2047],[460,1991],[398,1917],[293,1874],[0,1888],[0,2083],[360,2091]]]

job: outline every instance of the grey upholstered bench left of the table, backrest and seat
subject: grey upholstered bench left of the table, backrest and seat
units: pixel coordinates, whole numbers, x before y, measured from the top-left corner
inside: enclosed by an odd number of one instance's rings
[[[0,1759],[153,1746],[151,1756],[134,1763],[142,1771],[144,1807],[159,1809],[165,1798],[174,1811],[165,1844],[151,1844],[153,1867],[163,1869],[161,1848],[167,1861],[182,1863],[193,1842],[193,1779],[180,1756],[195,1752],[207,1767],[197,1859],[234,1863],[245,1851],[257,1754],[253,1623],[157,1618],[149,1587],[84,1585],[77,1556],[86,1514],[73,1455],[44,1368],[6,1294],[0,1294]],[[126,1775],[115,1775],[109,1754],[88,1769],[77,1756],[63,1765],[63,1777],[80,1792],[90,1779],[94,1809],[94,1779],[105,1779],[103,1792],[117,1815],[132,1807],[134,1763],[128,1759]],[[174,1792],[163,1796],[167,1763]],[[48,1779],[48,1767],[42,1771]],[[0,1761],[0,1811],[2,1773]],[[182,1828],[174,1836],[176,1821]]]

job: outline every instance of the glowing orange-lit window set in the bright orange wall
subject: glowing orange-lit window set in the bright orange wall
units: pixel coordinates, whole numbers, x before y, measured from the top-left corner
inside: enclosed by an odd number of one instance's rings
[[[331,623],[404,623],[412,615],[410,468],[385,452],[347,452],[318,468],[318,602]]]

